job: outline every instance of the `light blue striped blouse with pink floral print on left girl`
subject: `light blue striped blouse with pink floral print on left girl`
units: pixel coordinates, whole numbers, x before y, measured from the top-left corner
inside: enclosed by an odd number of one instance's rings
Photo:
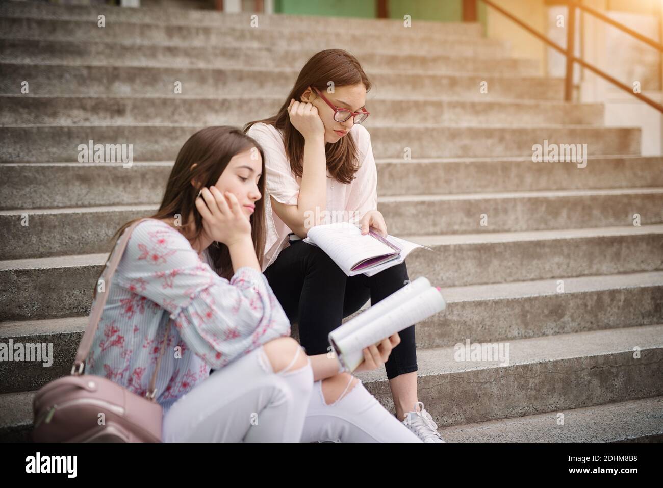
[[[211,368],[290,335],[290,321],[262,273],[242,267],[228,281],[204,256],[208,262],[167,223],[139,223],[111,279],[86,373],[145,395],[172,319],[156,379],[165,412]]]

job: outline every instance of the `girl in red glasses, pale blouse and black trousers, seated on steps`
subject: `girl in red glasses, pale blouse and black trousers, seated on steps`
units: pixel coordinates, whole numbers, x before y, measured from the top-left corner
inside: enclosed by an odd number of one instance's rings
[[[324,251],[301,241],[314,225],[339,219],[361,224],[362,233],[387,235],[371,137],[361,125],[370,115],[370,89],[354,56],[324,50],[306,62],[276,115],[244,127],[265,149],[263,272],[312,355],[330,351],[328,334],[369,298],[375,304],[409,282],[405,263],[348,277]],[[423,440],[444,442],[417,398],[414,326],[400,332],[385,369],[398,420]]]

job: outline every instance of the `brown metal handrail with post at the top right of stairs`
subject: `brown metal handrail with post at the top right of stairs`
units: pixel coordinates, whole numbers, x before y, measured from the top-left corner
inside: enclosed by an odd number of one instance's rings
[[[617,27],[617,29],[623,30],[623,32],[626,32],[627,34],[631,34],[632,36],[634,36],[638,40],[641,40],[642,42],[646,42],[646,44],[649,44],[650,46],[652,46],[652,47],[654,47],[654,48],[656,48],[660,51],[663,51],[663,44],[659,44],[658,42],[656,42],[656,41],[654,41],[654,40],[652,40],[652,39],[650,39],[646,36],[643,36],[642,34],[639,34],[638,32],[635,32],[634,30],[629,29],[625,25],[622,25],[619,22],[614,21],[613,19],[610,19],[610,17],[607,17],[607,16],[603,15],[601,12],[599,12],[595,9],[592,9],[591,7],[587,7],[585,5],[582,5],[581,3],[578,3],[577,1],[567,0],[566,2],[563,2],[563,3],[566,3],[566,5],[568,5],[568,7],[569,7],[569,15],[568,15],[568,23],[567,23],[568,30],[567,30],[567,40],[566,40],[567,48],[565,49],[562,46],[560,46],[559,44],[557,44],[556,42],[554,42],[553,40],[551,40],[550,38],[548,38],[548,36],[544,36],[544,34],[541,34],[540,32],[537,32],[534,28],[530,27],[529,25],[527,25],[526,23],[524,23],[523,21],[521,21],[520,19],[518,19],[517,17],[512,15],[512,13],[510,13],[509,11],[506,11],[505,9],[500,7],[499,5],[496,5],[493,1],[491,1],[491,0],[481,0],[481,1],[483,1],[483,3],[485,3],[489,7],[497,10],[499,13],[501,13],[505,17],[511,19],[511,21],[518,24],[520,27],[527,30],[531,34],[534,34],[534,36],[538,37],[540,40],[542,40],[543,42],[548,44],[548,46],[552,47],[553,49],[561,52],[562,54],[564,54],[564,56],[566,56],[566,78],[564,80],[564,100],[571,101],[571,99],[572,99],[573,64],[577,63],[580,66],[582,66],[583,68],[587,68],[587,70],[593,72],[594,74],[597,74],[598,76],[601,76],[601,78],[603,78],[604,80],[610,82],[611,84],[617,86],[618,88],[621,88],[624,91],[627,91],[627,93],[631,93],[631,95],[633,95],[637,99],[640,99],[641,101],[644,101],[644,103],[647,103],[648,105],[651,105],[656,110],[663,113],[663,105],[661,105],[660,103],[652,100],[649,97],[646,97],[645,95],[642,95],[642,93],[635,93],[633,91],[633,89],[631,87],[629,87],[628,85],[623,84],[622,82],[620,82],[619,80],[613,78],[612,76],[610,76],[609,74],[607,74],[603,70],[600,70],[596,66],[593,66],[592,64],[589,64],[589,63],[585,62],[585,60],[583,60],[581,58],[577,58],[576,56],[574,56],[573,48],[574,48],[574,42],[575,42],[575,9],[576,8],[583,9],[584,11],[589,13],[590,15],[593,15],[593,16],[597,17],[597,19],[599,19],[601,21],[605,21],[606,23],[609,23],[610,25],[613,25],[614,27]]]

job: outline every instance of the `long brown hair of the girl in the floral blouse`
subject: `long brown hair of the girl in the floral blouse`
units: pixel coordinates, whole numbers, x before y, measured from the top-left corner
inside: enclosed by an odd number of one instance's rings
[[[179,214],[183,229],[191,231],[193,230],[191,229],[192,223],[195,226],[193,234],[186,237],[191,241],[198,239],[203,231],[202,216],[195,204],[200,188],[216,184],[231,158],[252,147],[259,151],[263,160],[262,176],[258,180],[258,189],[263,198],[255,202],[255,210],[249,217],[253,247],[262,267],[265,249],[265,153],[254,139],[237,127],[227,125],[206,127],[196,132],[184,143],[168,177],[168,184],[166,184],[166,191],[159,210],[147,218],[166,219]],[[200,188],[195,188],[191,184],[192,180],[198,182]],[[190,215],[193,215],[192,221],[188,221]],[[117,243],[117,239],[125,229],[140,218],[125,223],[111,237],[111,241]],[[233,267],[228,247],[223,243],[213,243],[208,247],[208,252],[219,276],[227,280],[232,278]],[[100,277],[101,274],[99,274]],[[96,292],[97,287],[95,286],[95,296]]]

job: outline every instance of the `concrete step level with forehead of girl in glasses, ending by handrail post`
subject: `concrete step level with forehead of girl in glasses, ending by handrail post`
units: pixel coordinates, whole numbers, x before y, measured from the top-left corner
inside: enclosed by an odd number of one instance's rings
[[[287,96],[298,71],[288,68],[177,68],[151,66],[74,66],[68,64],[0,63],[0,95],[21,95],[29,80],[30,95],[158,95],[162,97],[216,97],[219,95]],[[495,74],[447,75],[431,72],[368,73],[373,98],[470,100],[562,100],[562,78],[501,76]],[[175,83],[181,93],[175,94]],[[487,93],[481,93],[485,82]],[[435,94],[439,95],[435,95]],[[266,114],[269,115],[269,114]]]

